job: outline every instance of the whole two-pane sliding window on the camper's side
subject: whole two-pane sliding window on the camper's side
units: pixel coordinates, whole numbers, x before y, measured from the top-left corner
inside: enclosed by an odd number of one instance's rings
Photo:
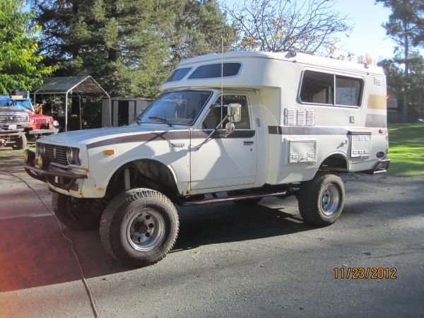
[[[363,81],[359,78],[305,71],[300,88],[300,100],[312,104],[359,107],[362,91]]]

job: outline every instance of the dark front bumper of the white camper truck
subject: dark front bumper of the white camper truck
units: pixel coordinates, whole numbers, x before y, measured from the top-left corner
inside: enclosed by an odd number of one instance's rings
[[[52,165],[49,165],[47,169],[40,169],[40,167],[35,167],[34,164],[25,163],[23,167],[31,177],[66,191],[78,191],[76,180],[88,178],[87,173],[73,172]]]

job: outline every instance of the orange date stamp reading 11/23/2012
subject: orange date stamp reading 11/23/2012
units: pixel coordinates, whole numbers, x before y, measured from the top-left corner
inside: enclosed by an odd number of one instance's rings
[[[396,279],[395,267],[334,267],[335,279]]]

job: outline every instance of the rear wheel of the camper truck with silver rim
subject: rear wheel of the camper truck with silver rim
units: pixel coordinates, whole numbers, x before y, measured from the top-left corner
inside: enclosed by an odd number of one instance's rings
[[[306,223],[326,226],[336,222],[345,201],[341,177],[318,172],[314,179],[303,182],[298,196],[300,216]]]

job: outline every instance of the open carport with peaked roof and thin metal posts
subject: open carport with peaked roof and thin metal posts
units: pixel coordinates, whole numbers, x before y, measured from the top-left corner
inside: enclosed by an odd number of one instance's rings
[[[44,78],[44,84],[34,92],[34,103],[37,95],[65,95],[65,131],[68,131],[68,97],[78,95],[80,98],[80,127],[81,119],[81,95],[102,95],[109,100],[110,95],[91,76],[64,76]]]

